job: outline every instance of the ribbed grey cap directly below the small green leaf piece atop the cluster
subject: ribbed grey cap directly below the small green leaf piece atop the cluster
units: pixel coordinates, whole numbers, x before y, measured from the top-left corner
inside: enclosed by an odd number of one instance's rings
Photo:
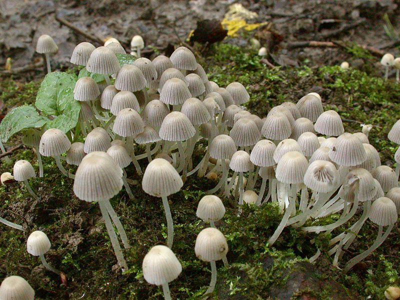
[[[125,64],[116,74],[114,85],[119,90],[136,91],[146,86],[146,78],[137,66]]]

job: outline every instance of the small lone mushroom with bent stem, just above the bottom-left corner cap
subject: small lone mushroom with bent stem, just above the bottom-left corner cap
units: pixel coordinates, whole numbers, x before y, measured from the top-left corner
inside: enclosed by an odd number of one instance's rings
[[[56,274],[59,274],[60,271],[49,265],[44,258],[44,254],[47,253],[50,247],[50,240],[43,231],[33,231],[29,234],[28,239],[26,240],[26,249],[28,253],[33,256],[39,256],[41,263],[43,263],[46,269]]]

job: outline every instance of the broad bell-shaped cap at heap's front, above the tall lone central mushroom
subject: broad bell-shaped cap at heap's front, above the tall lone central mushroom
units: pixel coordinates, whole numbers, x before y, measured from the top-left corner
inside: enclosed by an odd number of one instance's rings
[[[180,111],[172,111],[165,116],[158,133],[164,140],[182,141],[192,137],[195,132],[186,115]]]

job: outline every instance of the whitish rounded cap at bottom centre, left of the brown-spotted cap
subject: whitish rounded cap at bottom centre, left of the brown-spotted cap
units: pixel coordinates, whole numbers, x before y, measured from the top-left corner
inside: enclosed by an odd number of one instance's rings
[[[144,279],[155,285],[162,285],[176,279],[182,265],[167,246],[156,245],[143,258],[141,265]]]

